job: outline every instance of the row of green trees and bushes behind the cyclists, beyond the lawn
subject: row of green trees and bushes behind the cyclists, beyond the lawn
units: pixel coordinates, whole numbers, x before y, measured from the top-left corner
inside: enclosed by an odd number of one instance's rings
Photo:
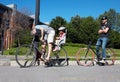
[[[102,16],[108,16],[109,21],[112,24],[108,44],[113,48],[120,48],[120,13],[116,12],[114,9],[105,11],[97,19],[94,19],[91,16],[80,17],[79,15],[76,15],[71,17],[69,23],[64,18],[57,16],[51,20],[50,26],[55,29],[56,35],[58,35],[58,28],[65,26],[67,28],[67,42],[69,43],[87,44],[90,39],[92,45],[95,45],[99,37],[98,29],[100,28]],[[117,27],[114,27],[114,25]],[[31,38],[30,29],[20,29],[16,34],[14,46],[28,44],[31,42]]]

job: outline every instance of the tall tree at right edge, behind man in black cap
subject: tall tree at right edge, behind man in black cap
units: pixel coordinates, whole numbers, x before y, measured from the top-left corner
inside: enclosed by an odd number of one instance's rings
[[[102,16],[108,16],[111,23],[108,42],[109,46],[120,48],[120,13],[116,12],[114,9],[110,9],[101,14],[98,20],[100,20]]]

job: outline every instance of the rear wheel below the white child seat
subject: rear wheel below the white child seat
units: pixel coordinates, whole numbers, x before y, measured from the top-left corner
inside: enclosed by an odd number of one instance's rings
[[[51,59],[56,66],[69,65],[67,52],[63,47],[60,50],[53,51]]]

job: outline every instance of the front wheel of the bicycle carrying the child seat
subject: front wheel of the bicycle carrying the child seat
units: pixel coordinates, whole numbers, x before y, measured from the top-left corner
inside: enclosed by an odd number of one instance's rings
[[[18,47],[15,54],[16,62],[20,67],[30,67],[35,63],[36,55],[32,45],[22,45]]]

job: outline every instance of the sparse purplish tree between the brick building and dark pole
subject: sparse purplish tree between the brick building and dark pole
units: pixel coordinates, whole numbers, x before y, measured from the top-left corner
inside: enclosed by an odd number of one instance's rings
[[[28,10],[23,9],[22,13],[16,11],[13,17],[13,26],[15,31],[15,43],[13,46],[19,46],[20,44],[30,43],[32,24],[34,19],[29,17]]]

